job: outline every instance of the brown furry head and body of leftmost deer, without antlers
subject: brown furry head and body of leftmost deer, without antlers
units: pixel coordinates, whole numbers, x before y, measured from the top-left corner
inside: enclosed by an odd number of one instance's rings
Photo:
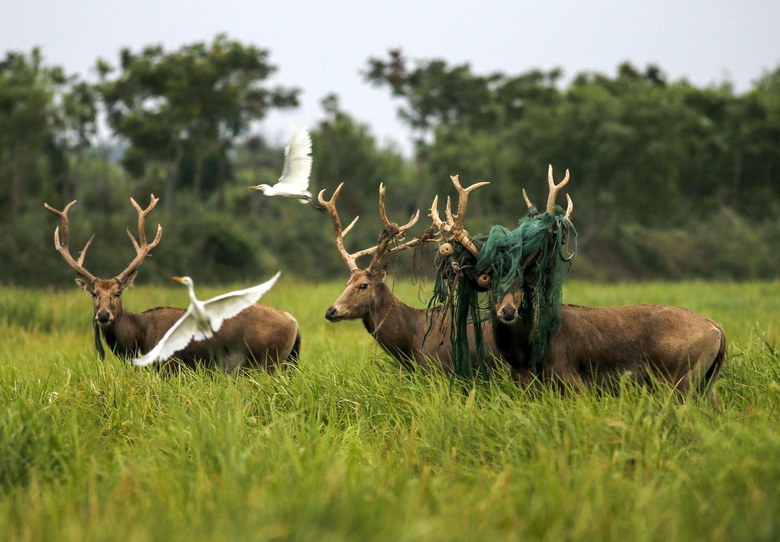
[[[95,320],[106,344],[116,356],[130,358],[149,352],[165,332],[184,314],[184,309],[169,306],[133,313],[122,307],[122,292],[133,282],[97,279],[91,284],[76,282],[94,299]],[[108,313],[101,321],[98,315]],[[264,367],[274,370],[279,363],[297,360],[300,351],[298,322],[289,314],[267,305],[255,304],[236,317],[225,321],[215,336],[207,341],[191,342],[176,360],[193,366],[211,363],[225,371],[240,367]],[[169,367],[173,367],[168,363]]]

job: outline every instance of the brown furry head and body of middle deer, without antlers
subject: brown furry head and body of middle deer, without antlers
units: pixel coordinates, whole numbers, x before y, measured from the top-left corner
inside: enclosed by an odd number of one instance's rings
[[[364,286],[363,286],[364,285]],[[363,286],[361,288],[361,286]],[[449,314],[441,329],[441,315],[434,315],[431,332],[424,309],[403,303],[385,284],[385,271],[374,275],[367,270],[354,271],[339,299],[326,312],[329,321],[360,320],[386,352],[404,363],[405,367],[424,370],[435,368],[452,374],[452,344],[449,340]],[[484,326],[484,342],[488,358],[497,352],[489,325]],[[470,330],[471,359],[476,363],[476,347]]]

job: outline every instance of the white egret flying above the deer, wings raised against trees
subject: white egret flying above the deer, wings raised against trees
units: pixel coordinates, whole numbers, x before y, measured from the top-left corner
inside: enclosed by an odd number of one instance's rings
[[[302,204],[311,204],[324,211],[325,207],[318,204],[309,192],[309,176],[311,175],[311,136],[303,126],[293,126],[293,137],[285,147],[285,167],[279,182],[274,186],[261,184],[250,186],[261,190],[266,196],[293,197]]]

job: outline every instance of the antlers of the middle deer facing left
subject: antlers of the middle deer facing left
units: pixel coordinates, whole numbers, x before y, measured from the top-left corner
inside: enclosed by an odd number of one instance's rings
[[[377,244],[377,246],[372,246],[371,248],[364,249],[364,250],[358,250],[356,253],[352,253],[352,254],[348,253],[346,251],[346,248],[344,248],[344,236],[346,236],[346,233],[349,232],[350,229],[352,229],[353,225],[355,225],[355,222],[360,217],[359,216],[355,217],[352,223],[349,226],[347,226],[346,229],[344,229],[344,231],[342,232],[341,221],[339,220],[339,213],[336,211],[336,207],[335,207],[335,200],[336,197],[339,197],[339,192],[341,191],[342,186],[344,186],[343,182],[339,185],[338,188],[336,188],[330,201],[325,201],[324,198],[322,197],[322,194],[325,192],[324,190],[322,190],[319,196],[317,196],[317,200],[322,205],[324,205],[325,208],[328,209],[328,214],[331,215],[331,220],[333,221],[333,228],[335,229],[335,233],[336,233],[336,248],[339,249],[339,253],[341,254],[342,259],[346,262],[347,266],[349,267],[349,271],[360,271],[360,267],[357,267],[356,260],[361,256],[374,254],[374,259],[371,260],[371,264],[369,264],[367,269],[368,271],[375,271],[378,265],[380,264],[381,260],[384,260],[386,257],[392,256],[392,254],[400,252],[401,250],[406,250],[408,248],[412,248],[413,246],[417,246],[422,242],[432,240],[430,235],[426,235],[424,233],[420,236],[415,237],[414,239],[411,239],[410,241],[407,241],[406,243],[399,243],[388,250],[388,245],[392,243],[394,240],[396,242],[403,241],[404,236],[406,235],[406,230],[408,230],[413,225],[415,225],[417,223],[417,220],[420,219],[420,211],[417,210],[417,213],[413,214],[410,221],[408,221],[405,225],[399,226],[390,222],[387,217],[387,212],[385,211],[385,185],[380,183],[379,216],[381,217],[382,222],[385,225],[385,228],[382,230],[382,234],[379,238],[379,243]]]

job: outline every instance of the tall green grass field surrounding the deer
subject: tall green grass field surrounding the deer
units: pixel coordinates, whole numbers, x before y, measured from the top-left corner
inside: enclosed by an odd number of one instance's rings
[[[401,374],[361,324],[324,320],[341,289],[281,282],[264,302],[300,321],[300,365],[235,378],[101,363],[75,285],[0,289],[0,538],[780,537],[780,283],[566,285],[568,303],[720,322],[720,410],[630,386],[464,393]],[[185,290],[125,295],[131,310],[161,304],[185,306]]]

